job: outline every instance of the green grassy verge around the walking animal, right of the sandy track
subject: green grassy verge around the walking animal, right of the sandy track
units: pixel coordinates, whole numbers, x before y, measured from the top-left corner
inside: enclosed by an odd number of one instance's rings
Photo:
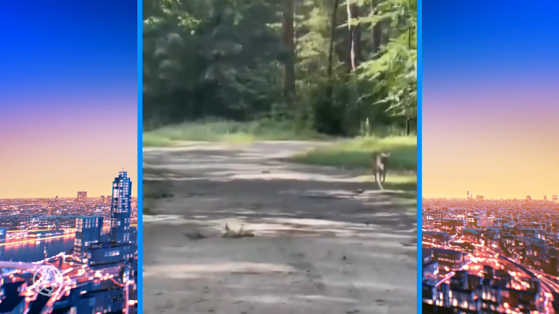
[[[391,153],[385,188],[415,191],[417,188],[416,148],[416,136],[357,137],[293,156],[290,161],[347,169],[367,169],[371,175],[363,176],[363,180],[373,181],[375,177],[371,169],[371,152]]]

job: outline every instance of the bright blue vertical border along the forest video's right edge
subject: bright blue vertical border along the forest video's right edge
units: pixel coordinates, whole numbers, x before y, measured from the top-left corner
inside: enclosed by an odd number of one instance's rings
[[[422,107],[423,107],[423,82],[421,82],[421,74],[423,73],[423,40],[421,39],[421,0],[418,1],[418,21],[417,21],[417,27],[418,27],[418,34],[417,34],[417,50],[418,50],[418,66],[417,66],[417,80],[418,80],[418,117],[417,117],[417,133],[418,133],[418,139],[417,139],[417,245],[418,245],[418,260],[417,260],[417,275],[418,275],[418,281],[417,281],[417,285],[418,285],[418,295],[417,295],[417,302],[418,302],[418,309],[417,312],[421,313],[423,312],[421,310],[422,307],[422,303],[423,303],[423,298],[422,298],[422,292],[423,292],[423,285],[421,284],[421,280],[422,280],[422,265],[423,265],[423,254],[422,254],[422,250],[421,250],[421,242],[423,239],[423,236],[421,235],[421,230],[423,229],[423,215],[421,215],[421,201],[423,199],[423,189],[422,186],[423,185],[423,147],[422,147],[422,142],[423,142],[423,114],[421,113]]]

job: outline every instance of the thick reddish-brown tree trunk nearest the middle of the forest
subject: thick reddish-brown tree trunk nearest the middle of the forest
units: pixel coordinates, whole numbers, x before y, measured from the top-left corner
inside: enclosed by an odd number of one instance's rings
[[[283,64],[283,93],[286,97],[295,94],[295,34],[293,27],[293,1],[283,0],[282,39],[289,50],[288,58]]]

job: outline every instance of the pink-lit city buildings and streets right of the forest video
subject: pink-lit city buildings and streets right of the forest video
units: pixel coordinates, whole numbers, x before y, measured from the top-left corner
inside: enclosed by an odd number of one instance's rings
[[[423,312],[557,313],[558,209],[519,199],[424,199]]]

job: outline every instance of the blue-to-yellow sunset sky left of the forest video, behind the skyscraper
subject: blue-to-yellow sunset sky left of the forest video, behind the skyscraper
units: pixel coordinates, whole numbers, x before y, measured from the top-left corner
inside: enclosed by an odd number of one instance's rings
[[[0,198],[108,195],[123,167],[136,196],[136,1],[6,2],[0,21]]]

